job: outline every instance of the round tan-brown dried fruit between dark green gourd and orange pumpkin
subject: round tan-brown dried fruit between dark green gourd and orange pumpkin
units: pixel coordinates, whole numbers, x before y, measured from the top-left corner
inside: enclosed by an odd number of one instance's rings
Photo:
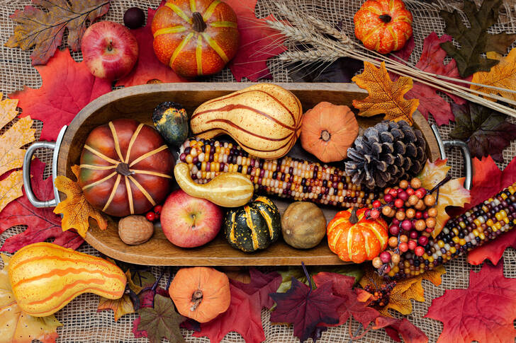
[[[293,202],[281,217],[281,233],[293,248],[313,248],[326,235],[325,214],[312,202]]]

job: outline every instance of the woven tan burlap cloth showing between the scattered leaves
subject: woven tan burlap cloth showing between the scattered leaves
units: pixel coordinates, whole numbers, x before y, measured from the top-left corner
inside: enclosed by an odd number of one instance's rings
[[[242,0],[245,1],[245,0]],[[358,10],[361,0],[287,0],[291,1],[293,6],[301,6],[313,15],[325,18],[332,23],[339,23],[342,21],[347,32],[353,32],[353,14]],[[477,1],[479,2],[479,0]],[[38,88],[41,86],[41,79],[33,66],[30,65],[30,58],[28,52],[23,52],[19,49],[9,49],[4,47],[4,42],[13,32],[13,22],[9,19],[9,15],[16,9],[23,9],[29,4],[28,0],[0,0],[0,91],[6,94],[13,91],[20,90],[24,85]],[[416,63],[422,50],[423,39],[432,31],[436,31],[439,35],[443,33],[444,23],[438,16],[440,8],[460,8],[460,2],[454,1],[439,1],[437,3],[428,4],[420,1],[405,1],[410,11],[414,15],[414,37],[416,42],[415,52],[411,57],[411,62]],[[112,0],[111,8],[108,14],[103,17],[103,20],[111,20],[122,22],[123,12],[130,6],[139,6],[140,8],[152,7],[155,8],[159,4],[159,0]],[[259,0],[256,12],[257,16],[267,16],[271,11],[274,11],[274,0]],[[515,13],[516,5],[513,0],[507,0],[503,6],[503,11],[500,15],[500,21],[494,25],[491,30],[500,32],[506,30],[509,33],[516,33]],[[74,58],[80,61],[81,54],[74,53]],[[269,61],[269,67],[274,76],[274,81],[291,81],[288,78],[288,73],[284,69],[281,62]],[[213,81],[235,81],[232,74],[227,69],[222,71],[217,76],[211,78]],[[431,120],[432,121],[432,120]],[[515,122],[514,120],[510,120]],[[37,123],[38,129],[41,128],[41,123]],[[453,129],[453,124],[449,126],[439,127],[439,132],[444,139],[448,138],[448,134]],[[40,152],[38,156],[44,162],[50,162],[50,153]],[[507,163],[516,156],[516,142],[513,141],[511,146],[505,149],[503,157],[504,163],[500,163],[500,167],[505,167]],[[462,173],[462,159],[458,151],[449,152],[449,163],[453,165],[451,173],[453,176],[461,176]],[[47,170],[47,173],[50,170]],[[0,244],[4,243],[6,238],[23,231],[23,227],[11,228],[2,235],[0,235]],[[99,255],[99,252],[91,248],[91,246],[84,243],[80,251],[89,253],[91,255]],[[505,276],[516,277],[516,252],[509,249],[505,252]],[[423,281],[425,288],[425,303],[413,302],[413,314],[408,316],[408,319],[417,327],[420,327],[429,337],[430,342],[436,342],[442,331],[442,323],[423,318],[427,313],[427,308],[430,306],[432,299],[442,296],[446,289],[466,288],[469,284],[469,271],[474,269],[478,271],[478,267],[471,268],[464,257],[449,262],[447,264],[447,274],[444,275],[442,285],[434,286],[428,281]],[[162,270],[159,267],[152,267],[152,272],[158,275]],[[172,269],[174,272],[174,269]],[[165,280],[168,276],[165,274],[162,280],[164,286]],[[120,318],[118,322],[114,322],[113,313],[111,311],[104,311],[96,313],[96,307],[99,302],[98,296],[91,294],[84,294],[79,296],[68,306],[57,313],[57,319],[63,323],[63,327],[58,329],[60,338],[58,342],[147,342],[147,339],[135,339],[132,333],[132,323],[135,315],[125,315]],[[454,308],[450,308],[454,310]],[[293,337],[291,328],[284,325],[271,325],[269,322],[269,313],[262,312],[262,322],[264,326],[265,335],[269,343],[272,342],[298,342],[298,339]],[[354,325],[356,327],[356,325]],[[192,332],[183,331],[187,342],[208,342],[206,338],[191,337]],[[347,342],[349,334],[347,326],[333,327],[322,335],[320,342]],[[223,342],[243,342],[242,337],[236,332],[228,334]],[[359,342],[391,342],[383,331],[371,330],[368,335],[360,339]]]

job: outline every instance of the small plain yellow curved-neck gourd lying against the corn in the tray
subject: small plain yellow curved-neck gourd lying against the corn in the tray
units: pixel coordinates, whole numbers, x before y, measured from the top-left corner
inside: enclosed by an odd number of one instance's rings
[[[186,194],[209,200],[222,207],[243,206],[249,202],[254,192],[251,180],[241,173],[222,173],[210,182],[200,185],[192,180],[188,164],[177,163],[174,176]]]

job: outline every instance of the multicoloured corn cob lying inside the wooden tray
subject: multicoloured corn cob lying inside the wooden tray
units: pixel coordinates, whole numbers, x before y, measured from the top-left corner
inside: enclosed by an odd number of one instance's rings
[[[380,194],[353,185],[344,170],[299,158],[265,160],[250,156],[237,144],[213,139],[188,139],[179,150],[195,182],[206,183],[219,173],[249,176],[254,191],[296,201],[336,207],[371,207]]]

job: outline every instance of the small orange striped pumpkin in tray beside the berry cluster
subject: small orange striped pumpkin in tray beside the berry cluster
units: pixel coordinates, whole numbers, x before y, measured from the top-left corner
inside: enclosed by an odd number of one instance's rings
[[[366,219],[366,210],[354,207],[340,211],[328,223],[328,245],[342,261],[361,263],[373,260],[387,248],[386,221],[381,218]]]

